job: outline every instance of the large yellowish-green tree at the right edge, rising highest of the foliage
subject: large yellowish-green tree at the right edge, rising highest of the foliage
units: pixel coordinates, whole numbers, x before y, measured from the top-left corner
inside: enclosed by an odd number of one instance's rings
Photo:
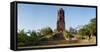
[[[89,24],[80,28],[78,34],[82,36],[88,36],[89,39],[91,36],[96,35],[96,18],[91,19]]]

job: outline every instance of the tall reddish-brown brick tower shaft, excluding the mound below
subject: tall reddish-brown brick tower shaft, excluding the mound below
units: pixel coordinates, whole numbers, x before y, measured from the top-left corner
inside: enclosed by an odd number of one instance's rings
[[[57,13],[57,31],[63,32],[65,30],[65,16],[63,8],[60,8]]]

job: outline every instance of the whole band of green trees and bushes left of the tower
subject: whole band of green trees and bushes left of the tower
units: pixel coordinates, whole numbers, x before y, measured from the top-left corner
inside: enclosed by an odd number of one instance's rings
[[[42,34],[42,35],[41,35]],[[38,45],[41,41],[47,41],[52,37],[53,31],[50,27],[41,29],[40,32],[28,31],[24,29],[18,32],[18,45]]]

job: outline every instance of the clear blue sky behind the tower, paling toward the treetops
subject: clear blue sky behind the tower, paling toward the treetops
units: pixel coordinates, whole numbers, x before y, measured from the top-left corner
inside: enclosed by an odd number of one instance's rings
[[[36,30],[51,27],[56,29],[57,11],[63,8],[65,12],[65,28],[77,28],[89,23],[96,17],[96,8],[53,6],[37,4],[18,4],[18,30]]]

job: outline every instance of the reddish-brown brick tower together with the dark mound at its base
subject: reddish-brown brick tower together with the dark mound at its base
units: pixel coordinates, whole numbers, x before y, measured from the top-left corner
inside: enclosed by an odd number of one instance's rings
[[[54,35],[55,40],[65,40],[63,31],[65,30],[65,16],[63,8],[57,11],[57,33]]]

